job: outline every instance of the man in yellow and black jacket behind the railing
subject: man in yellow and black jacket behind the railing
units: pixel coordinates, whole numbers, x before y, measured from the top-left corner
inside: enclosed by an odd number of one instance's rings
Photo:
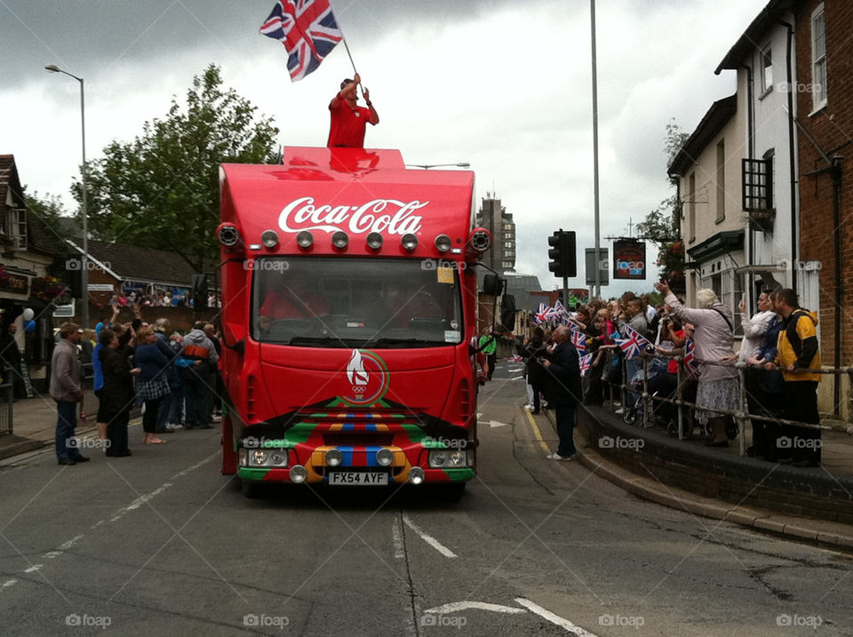
[[[820,424],[817,413],[817,383],[820,369],[817,342],[817,315],[802,309],[797,293],[790,288],[777,292],[773,309],[782,316],[785,327],[779,332],[776,366],[785,378],[785,419]],[[785,428],[776,441],[777,449],[790,452],[793,466],[820,464],[820,429],[792,426]]]

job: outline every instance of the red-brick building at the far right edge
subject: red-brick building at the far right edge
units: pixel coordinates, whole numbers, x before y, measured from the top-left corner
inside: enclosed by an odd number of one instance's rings
[[[821,357],[853,362],[853,3],[803,0],[794,7],[801,260],[819,269]],[[821,402],[850,418],[846,377],[821,383]],[[830,394],[831,393],[831,394]]]

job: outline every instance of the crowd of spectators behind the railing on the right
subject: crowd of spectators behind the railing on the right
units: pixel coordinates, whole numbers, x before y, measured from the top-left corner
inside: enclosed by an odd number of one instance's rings
[[[708,446],[726,447],[738,434],[733,414],[741,409],[742,368],[752,425],[747,453],[793,466],[818,466],[821,430],[809,426],[820,423],[817,316],[799,307],[790,289],[761,292],[754,315],[741,301],[736,317],[711,290],[698,291],[696,307],[688,307],[666,283],[656,287],[664,296],[658,307],[628,292],[621,299],[594,300],[569,315],[572,329],[583,334],[582,354],[588,362],[578,401],[602,405],[610,399],[617,414],[638,410],[642,415],[646,382],[653,410],[645,422],[677,433],[678,408],[654,398],[679,397],[695,405],[681,408],[689,433],[698,426],[707,434]],[[736,333],[742,334],[737,353]],[[633,334],[639,334],[645,346],[632,356],[618,342]],[[527,407],[533,414],[540,410],[541,397],[547,402],[549,392],[554,394],[553,383],[549,387],[543,375],[543,362],[554,345],[553,331],[538,325],[518,348],[525,362]],[[685,354],[689,360],[693,357],[695,366],[685,363]]]

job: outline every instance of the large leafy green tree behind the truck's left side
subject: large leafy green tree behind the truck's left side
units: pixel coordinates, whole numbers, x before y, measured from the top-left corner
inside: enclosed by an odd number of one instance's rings
[[[256,114],[213,64],[193,78],[186,103],[132,142],[113,141],[88,165],[88,217],[103,241],[173,251],[196,271],[215,259],[219,164],[275,161],[273,119]],[[76,181],[75,197],[82,200]]]

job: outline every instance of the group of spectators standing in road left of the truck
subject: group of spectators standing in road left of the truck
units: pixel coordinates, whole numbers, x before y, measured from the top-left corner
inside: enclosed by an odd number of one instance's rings
[[[136,299],[139,301],[140,299]],[[64,323],[52,362],[51,395],[57,401],[56,453],[61,465],[88,458],[73,448],[78,420],[85,420],[81,362],[92,363],[93,390],[98,397],[98,438],[108,457],[132,455],[127,428],[134,406],[142,408],[143,444],[166,442],[161,434],[181,429],[211,429],[221,418],[216,397],[219,380],[219,335],[211,323],[196,322],[186,335],[169,334],[169,321],[143,322],[140,306],[131,322],[120,322],[121,305],[95,330]]]

